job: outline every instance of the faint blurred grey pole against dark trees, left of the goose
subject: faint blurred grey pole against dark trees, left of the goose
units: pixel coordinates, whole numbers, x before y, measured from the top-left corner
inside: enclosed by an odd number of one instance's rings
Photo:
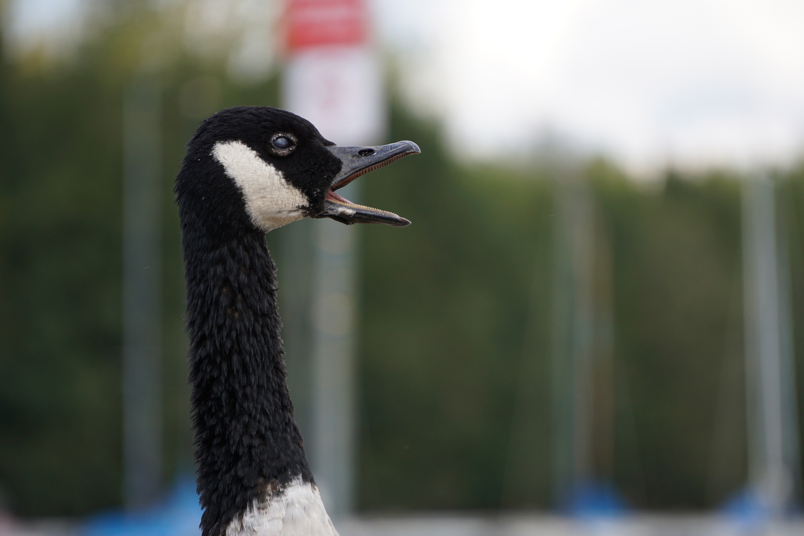
[[[162,90],[137,76],[123,98],[123,496],[129,509],[162,481]]]

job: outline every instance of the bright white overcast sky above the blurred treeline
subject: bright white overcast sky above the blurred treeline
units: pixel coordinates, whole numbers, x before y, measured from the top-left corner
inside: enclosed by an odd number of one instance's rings
[[[18,0],[15,31],[75,25],[88,1]],[[467,156],[548,135],[633,170],[785,165],[804,152],[801,0],[371,4],[408,100]]]

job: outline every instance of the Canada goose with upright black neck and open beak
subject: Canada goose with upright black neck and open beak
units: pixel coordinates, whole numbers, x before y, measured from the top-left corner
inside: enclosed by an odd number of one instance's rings
[[[419,152],[412,141],[339,147],[257,106],[215,113],[188,142],[174,191],[203,536],[338,534],[293,420],[265,233],[301,218],[408,225],[334,190]]]

